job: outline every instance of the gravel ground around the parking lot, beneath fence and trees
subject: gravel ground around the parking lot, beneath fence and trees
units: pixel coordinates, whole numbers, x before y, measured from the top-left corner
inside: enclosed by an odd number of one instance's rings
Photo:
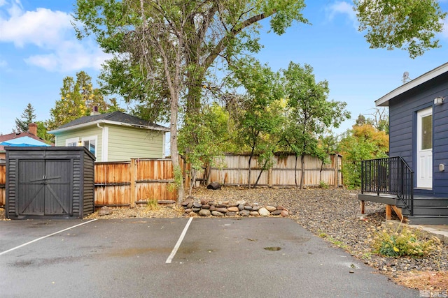
[[[303,228],[322,237],[329,245],[339,246],[366,265],[388,278],[417,290],[448,290],[448,245],[438,248],[424,258],[391,258],[372,253],[372,234],[381,228],[385,219],[384,204],[366,202],[365,215],[360,216],[358,191],[338,189],[246,188],[227,187],[218,191],[197,188],[195,199],[258,202],[260,206],[281,205],[290,211],[290,218]],[[4,218],[0,209],[0,218]],[[180,207],[149,209],[113,209],[112,214],[90,218],[181,217]]]

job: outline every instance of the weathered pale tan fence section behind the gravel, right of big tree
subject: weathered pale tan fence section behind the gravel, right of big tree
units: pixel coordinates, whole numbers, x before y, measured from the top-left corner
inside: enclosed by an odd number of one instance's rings
[[[225,154],[215,158],[214,166],[210,169],[209,181],[218,181],[223,185],[248,185],[248,155]],[[342,156],[333,154],[328,156],[329,163],[322,165],[322,161],[313,156],[304,157],[304,186],[319,186],[321,181],[328,186],[342,186]],[[295,186],[300,185],[302,165],[300,156],[275,155],[273,165],[269,170],[261,170],[257,157],[251,160],[251,185],[255,184],[258,175],[261,177],[257,185],[260,186]],[[204,179],[204,172],[197,173],[196,185]]]

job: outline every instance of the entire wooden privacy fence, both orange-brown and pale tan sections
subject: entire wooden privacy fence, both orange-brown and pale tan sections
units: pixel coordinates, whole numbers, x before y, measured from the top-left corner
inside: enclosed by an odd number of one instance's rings
[[[210,169],[209,181],[218,181],[227,186],[247,186],[248,155],[226,154],[215,159],[215,166]],[[329,156],[329,163],[321,165],[318,158],[305,156],[304,186],[319,186],[321,181],[328,186],[342,186],[342,156]],[[189,165],[183,167],[185,186],[190,185]],[[131,161],[95,163],[95,206],[134,207],[148,200],[176,200],[174,188],[174,171],[171,159],[139,159]],[[251,161],[251,185],[260,174],[256,156]],[[273,166],[262,171],[260,186],[295,186],[300,185],[300,158],[295,169],[295,156],[274,156]],[[195,185],[199,186],[204,173],[197,173]],[[6,165],[0,165],[0,206],[6,204]],[[187,191],[187,190],[186,190]]]

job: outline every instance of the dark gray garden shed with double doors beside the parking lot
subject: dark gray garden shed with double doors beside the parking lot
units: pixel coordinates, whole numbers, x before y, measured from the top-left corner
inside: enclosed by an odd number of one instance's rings
[[[83,218],[94,211],[95,157],[85,147],[5,147],[6,218]]]

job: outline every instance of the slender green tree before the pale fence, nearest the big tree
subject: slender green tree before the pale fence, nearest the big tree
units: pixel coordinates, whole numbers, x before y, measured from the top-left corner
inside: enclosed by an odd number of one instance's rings
[[[232,66],[235,87],[244,87],[237,119],[237,142],[250,150],[248,159],[248,188],[251,188],[251,161],[258,155],[260,174],[271,167],[272,156],[278,142],[277,135],[283,121],[279,73],[261,65],[253,58],[241,59]]]

